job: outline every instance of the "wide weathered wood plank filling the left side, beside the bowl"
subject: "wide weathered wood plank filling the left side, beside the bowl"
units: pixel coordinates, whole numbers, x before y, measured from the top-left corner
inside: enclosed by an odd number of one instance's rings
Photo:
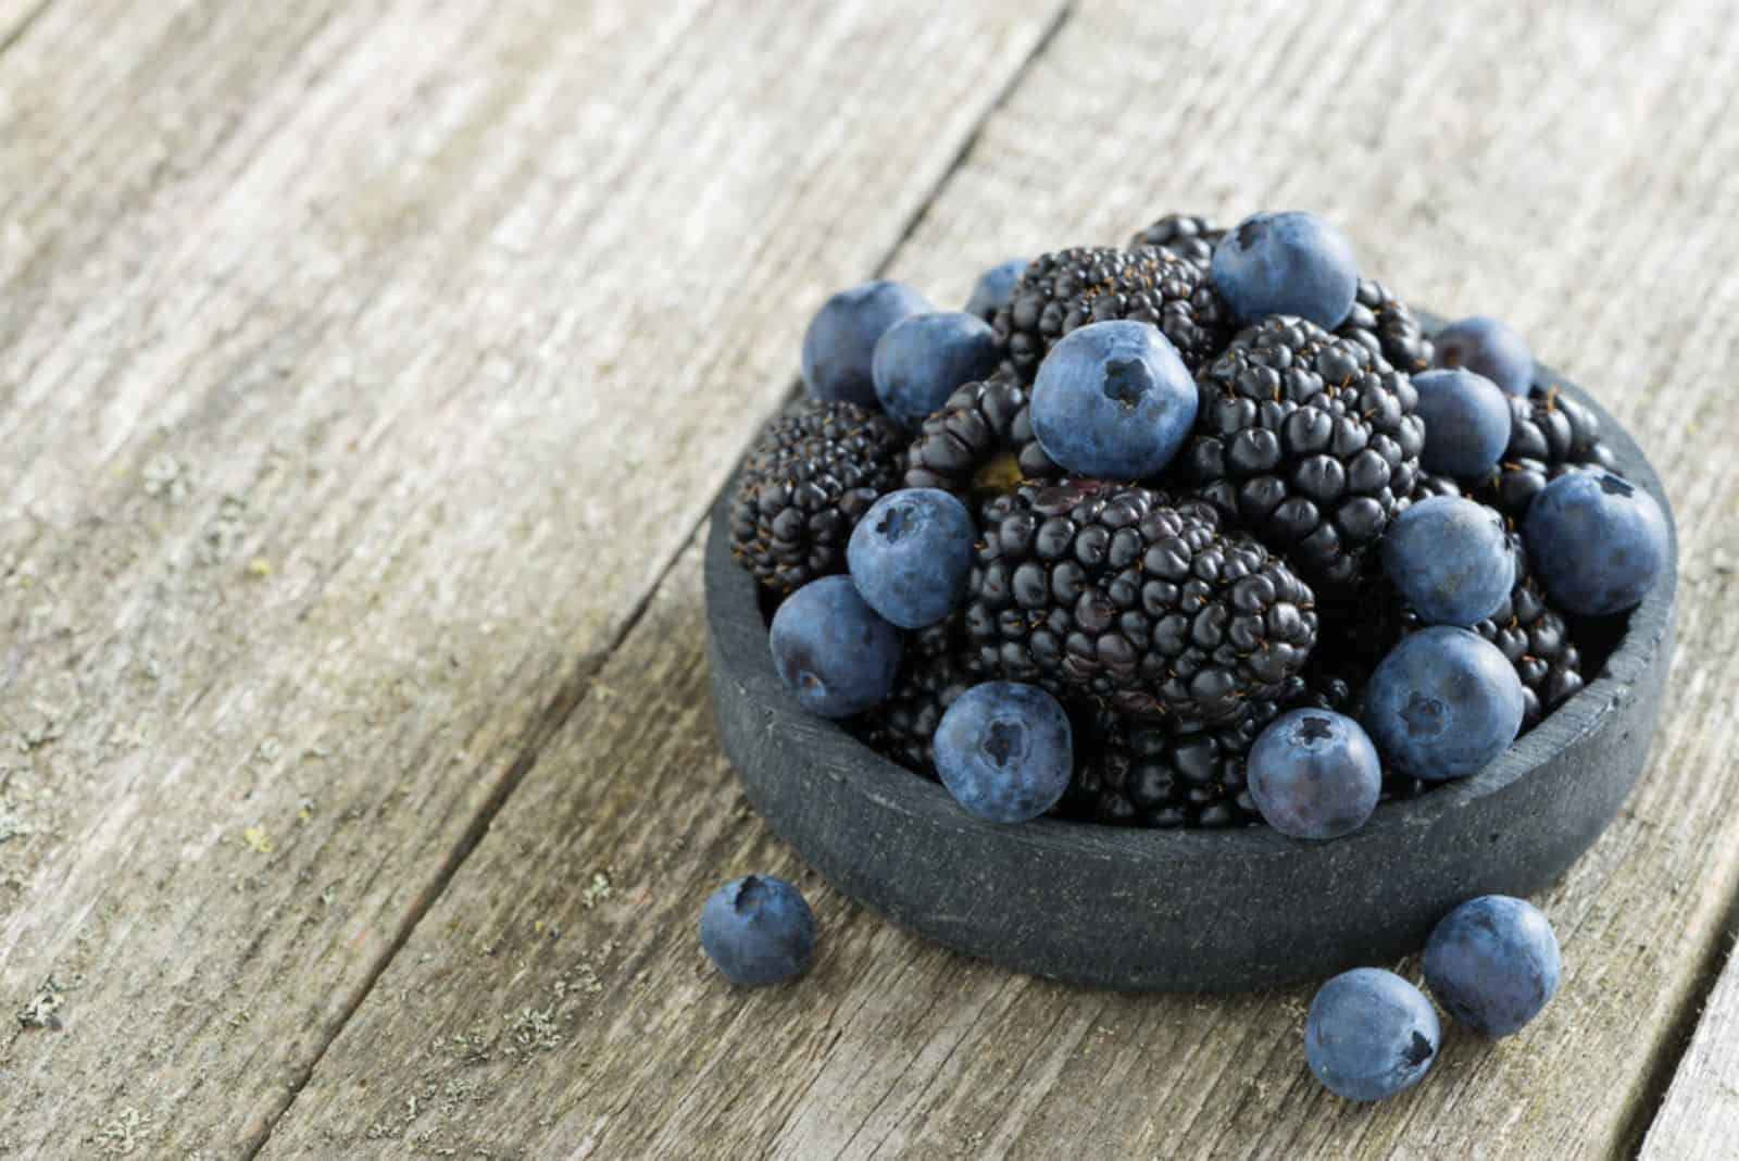
[[[0,1154],[263,1137],[1047,28],[930,7],[0,57]]]

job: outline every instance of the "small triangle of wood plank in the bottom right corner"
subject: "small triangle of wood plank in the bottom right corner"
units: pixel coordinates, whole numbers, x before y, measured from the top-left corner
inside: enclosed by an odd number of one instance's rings
[[[1732,933],[1729,933],[1729,940]],[[1729,945],[1730,951],[1730,945]],[[1739,1140],[1739,959],[1729,958],[1649,1126],[1642,1161],[1723,1161]]]

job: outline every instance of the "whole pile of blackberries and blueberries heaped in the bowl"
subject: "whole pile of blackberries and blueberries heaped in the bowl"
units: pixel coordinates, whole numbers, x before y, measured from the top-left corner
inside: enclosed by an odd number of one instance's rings
[[[1509,327],[1311,214],[828,299],[732,547],[796,702],[993,822],[1358,829],[1584,685],[1666,516]]]

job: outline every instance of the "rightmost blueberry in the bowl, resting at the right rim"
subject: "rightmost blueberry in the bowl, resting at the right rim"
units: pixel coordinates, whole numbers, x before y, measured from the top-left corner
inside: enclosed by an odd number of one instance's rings
[[[1534,575],[1570,614],[1635,608],[1666,567],[1666,513],[1609,471],[1572,471],[1534,497],[1522,521]]]

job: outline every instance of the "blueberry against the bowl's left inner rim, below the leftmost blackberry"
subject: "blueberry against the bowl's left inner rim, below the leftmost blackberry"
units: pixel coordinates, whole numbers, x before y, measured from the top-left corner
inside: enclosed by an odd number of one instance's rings
[[[823,718],[880,704],[899,673],[899,629],[864,603],[850,577],[821,577],[784,598],[767,643],[796,704]]]

